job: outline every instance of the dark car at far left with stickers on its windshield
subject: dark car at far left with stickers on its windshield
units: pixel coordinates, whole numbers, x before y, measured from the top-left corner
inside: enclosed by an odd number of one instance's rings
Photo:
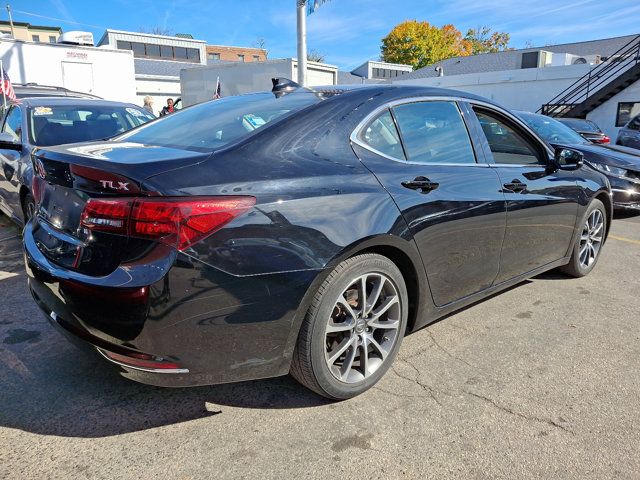
[[[18,223],[33,214],[34,149],[112,137],[155,118],[129,103],[57,97],[23,98],[0,115],[0,211]]]

